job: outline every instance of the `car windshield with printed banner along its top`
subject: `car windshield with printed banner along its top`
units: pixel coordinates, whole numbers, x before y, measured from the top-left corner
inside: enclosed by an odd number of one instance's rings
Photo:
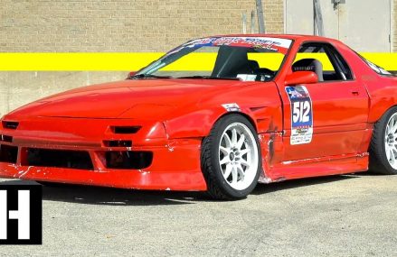
[[[291,42],[267,37],[211,37],[188,41],[131,78],[269,81],[279,71]]]

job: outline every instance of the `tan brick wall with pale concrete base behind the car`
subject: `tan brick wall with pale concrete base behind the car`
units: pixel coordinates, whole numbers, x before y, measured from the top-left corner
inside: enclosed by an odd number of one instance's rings
[[[284,0],[262,2],[266,31],[284,32]],[[0,0],[0,52],[165,51],[195,37],[241,33],[243,13],[250,32],[252,10],[255,0]],[[43,96],[127,73],[0,72],[0,116]]]

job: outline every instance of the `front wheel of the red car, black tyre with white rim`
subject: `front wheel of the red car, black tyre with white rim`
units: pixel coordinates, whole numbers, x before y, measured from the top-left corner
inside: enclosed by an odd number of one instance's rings
[[[241,115],[222,117],[203,140],[201,161],[211,197],[249,195],[260,176],[260,147],[252,124]]]

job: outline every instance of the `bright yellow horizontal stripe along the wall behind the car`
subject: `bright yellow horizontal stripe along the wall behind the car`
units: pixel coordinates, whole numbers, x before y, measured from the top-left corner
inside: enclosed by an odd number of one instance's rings
[[[0,53],[1,71],[61,71],[61,70],[137,70],[160,58],[164,53]],[[305,54],[307,55],[307,54]],[[309,54],[316,55],[316,54]],[[397,70],[397,53],[362,53],[373,63],[387,70]],[[214,53],[196,53],[170,65],[165,70],[210,70],[213,69]],[[307,57],[307,56],[305,56]],[[298,57],[302,58],[302,57]],[[324,69],[332,69],[329,63],[317,54]],[[255,56],[252,59],[257,60]],[[258,60],[261,67],[278,69],[279,54],[269,54]]]

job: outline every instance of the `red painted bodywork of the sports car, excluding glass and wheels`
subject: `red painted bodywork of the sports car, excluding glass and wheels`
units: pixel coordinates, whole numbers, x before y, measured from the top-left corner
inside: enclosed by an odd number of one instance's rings
[[[255,35],[233,35],[252,36]],[[14,163],[0,162],[0,177],[117,188],[205,190],[200,168],[203,137],[238,103],[260,138],[261,182],[326,176],[368,169],[373,124],[397,104],[397,79],[376,74],[340,41],[314,36],[266,35],[294,41],[271,82],[205,79],[125,80],[81,87],[23,106],[3,117],[1,145],[17,149]],[[291,145],[291,105],[286,77],[303,42],[328,42],[344,57],[354,79],[305,85],[314,111],[309,144]],[[18,123],[17,128],[7,123]],[[112,128],[139,126],[137,133]],[[108,145],[107,142],[132,142]],[[40,167],[28,149],[87,151],[92,169]],[[106,166],[108,151],[151,151],[144,169]]]

